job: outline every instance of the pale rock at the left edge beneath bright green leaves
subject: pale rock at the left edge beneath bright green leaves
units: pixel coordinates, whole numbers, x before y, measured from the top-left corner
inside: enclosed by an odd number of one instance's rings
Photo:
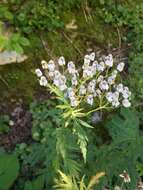
[[[15,51],[3,51],[0,52],[0,65],[6,65],[11,63],[21,63],[28,57],[26,55],[20,55]]]

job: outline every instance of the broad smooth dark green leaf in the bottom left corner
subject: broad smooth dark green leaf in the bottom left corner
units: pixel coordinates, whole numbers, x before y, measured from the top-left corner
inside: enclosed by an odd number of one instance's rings
[[[11,187],[18,176],[19,162],[14,154],[0,154],[0,190]]]

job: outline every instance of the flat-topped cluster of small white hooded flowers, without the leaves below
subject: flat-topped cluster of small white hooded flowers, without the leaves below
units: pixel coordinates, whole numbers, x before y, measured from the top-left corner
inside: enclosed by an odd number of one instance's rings
[[[77,68],[61,56],[56,61],[41,61],[35,72],[41,86],[54,85],[72,107],[88,104],[95,107],[130,107],[131,92],[120,82],[125,63],[114,63],[112,54],[97,58],[92,52],[84,56]]]

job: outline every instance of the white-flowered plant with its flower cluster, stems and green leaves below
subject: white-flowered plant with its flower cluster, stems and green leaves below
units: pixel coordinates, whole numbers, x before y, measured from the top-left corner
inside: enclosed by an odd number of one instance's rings
[[[81,118],[99,110],[131,105],[131,92],[118,82],[125,64],[115,64],[111,54],[96,58],[92,52],[84,56],[81,69],[72,61],[66,63],[63,56],[55,61],[42,60],[41,65],[42,70],[35,70],[39,83],[62,102],[57,107],[63,110],[63,126],[73,126],[70,130],[77,136],[86,161],[88,138],[81,126],[92,126]]]

